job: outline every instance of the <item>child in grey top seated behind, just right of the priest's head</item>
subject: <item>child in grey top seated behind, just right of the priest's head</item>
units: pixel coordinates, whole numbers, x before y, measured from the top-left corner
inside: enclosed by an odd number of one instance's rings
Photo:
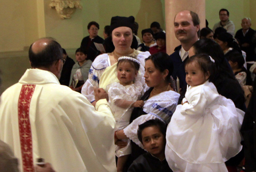
[[[76,92],[81,93],[84,82],[88,79],[91,60],[87,60],[87,54],[84,54],[81,49],[76,50],[76,60],[71,75],[70,75],[70,88]]]

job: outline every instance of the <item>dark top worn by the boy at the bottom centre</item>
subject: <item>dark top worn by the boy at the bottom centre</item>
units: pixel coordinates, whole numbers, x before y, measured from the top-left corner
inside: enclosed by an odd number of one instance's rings
[[[128,172],[139,172],[139,171],[147,171],[147,172],[172,172],[169,167],[166,159],[163,161],[158,158],[152,156],[150,153],[145,153],[140,155],[132,165],[129,167]]]

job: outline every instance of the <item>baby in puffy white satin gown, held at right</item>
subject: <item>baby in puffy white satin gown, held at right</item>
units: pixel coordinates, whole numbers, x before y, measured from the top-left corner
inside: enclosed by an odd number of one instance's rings
[[[214,71],[208,55],[192,56],[185,63],[187,91],[167,128],[165,154],[173,171],[228,172],[225,161],[242,149],[244,112],[218,94],[211,82]]]

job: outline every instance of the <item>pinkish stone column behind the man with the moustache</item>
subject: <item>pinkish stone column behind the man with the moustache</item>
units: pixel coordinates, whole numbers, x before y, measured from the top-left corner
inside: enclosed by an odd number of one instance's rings
[[[205,27],[205,0],[165,0],[166,17],[166,49],[167,54],[172,54],[175,47],[180,45],[174,33],[174,17],[183,10],[190,10],[199,15],[200,28]]]

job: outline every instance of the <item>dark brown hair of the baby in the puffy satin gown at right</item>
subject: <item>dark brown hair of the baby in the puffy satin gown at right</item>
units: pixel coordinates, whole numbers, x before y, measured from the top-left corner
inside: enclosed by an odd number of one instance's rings
[[[185,62],[185,67],[194,61],[198,63],[199,67],[204,72],[204,74],[208,74],[208,71],[210,72],[209,81],[212,82],[215,76],[216,66],[215,63],[211,61],[209,55],[197,54],[192,57],[189,57]]]

